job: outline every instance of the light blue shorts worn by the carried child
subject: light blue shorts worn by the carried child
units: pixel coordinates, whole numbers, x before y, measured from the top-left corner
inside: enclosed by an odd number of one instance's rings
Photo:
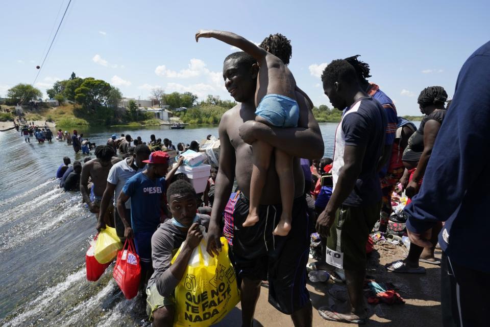
[[[296,100],[278,94],[262,98],[255,110],[269,124],[276,127],[296,127],[300,118],[300,106]]]

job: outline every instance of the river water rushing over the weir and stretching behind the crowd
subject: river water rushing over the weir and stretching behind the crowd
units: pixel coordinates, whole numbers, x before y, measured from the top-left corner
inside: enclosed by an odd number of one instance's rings
[[[335,123],[320,124],[325,155],[333,153]],[[129,133],[148,142],[151,134],[173,144],[217,136],[217,127],[171,130],[80,128],[105,144]],[[0,132],[0,324],[2,326],[149,326],[144,309],[126,300],[112,278],[113,265],[98,282],[86,280],[85,252],[95,216],[79,193],[64,193],[54,178],[64,156],[83,160],[66,143],[25,143],[15,130]],[[93,151],[92,151],[92,157]]]

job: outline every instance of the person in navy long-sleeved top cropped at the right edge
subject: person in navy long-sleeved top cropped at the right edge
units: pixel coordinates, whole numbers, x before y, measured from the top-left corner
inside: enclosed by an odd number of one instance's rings
[[[430,246],[430,228],[444,254],[441,302],[444,326],[487,326],[490,311],[488,247],[488,125],[490,42],[464,63],[451,108],[440,127],[420,192],[405,208],[412,243]],[[429,234],[429,235],[427,235]]]

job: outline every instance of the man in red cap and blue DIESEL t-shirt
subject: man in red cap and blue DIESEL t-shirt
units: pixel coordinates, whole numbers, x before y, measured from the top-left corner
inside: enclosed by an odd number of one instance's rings
[[[124,236],[133,238],[141,263],[141,283],[148,282],[153,274],[152,236],[160,224],[164,194],[168,181],[174,176],[183,160],[168,172],[168,154],[155,151],[150,154],[146,169],[126,181],[117,198],[117,212],[124,224]],[[167,173],[168,172],[168,173]],[[131,198],[131,217],[126,217],[125,203]],[[131,218],[128,223],[128,218]],[[144,294],[144,292],[142,292]]]

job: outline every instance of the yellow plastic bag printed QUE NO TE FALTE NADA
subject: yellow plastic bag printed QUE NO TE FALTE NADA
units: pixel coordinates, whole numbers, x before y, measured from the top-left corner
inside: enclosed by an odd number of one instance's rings
[[[228,242],[220,239],[222,251],[212,258],[206,240],[192,252],[184,277],[175,288],[174,326],[210,326],[222,320],[240,301],[235,271],[228,258]],[[179,248],[172,263],[176,260]]]

